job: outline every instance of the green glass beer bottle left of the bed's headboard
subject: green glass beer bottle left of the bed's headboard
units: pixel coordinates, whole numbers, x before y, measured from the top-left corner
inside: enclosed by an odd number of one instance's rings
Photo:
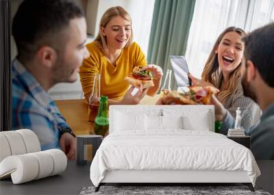
[[[108,132],[108,97],[101,96],[98,115],[95,118],[95,134],[105,135]]]

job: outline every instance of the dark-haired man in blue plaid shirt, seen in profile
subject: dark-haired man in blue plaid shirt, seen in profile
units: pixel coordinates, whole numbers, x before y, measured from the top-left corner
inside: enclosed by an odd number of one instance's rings
[[[76,81],[88,57],[82,9],[68,0],[25,0],[12,35],[18,49],[12,62],[12,129],[31,129],[42,150],[60,147],[75,159],[75,135],[47,90]]]

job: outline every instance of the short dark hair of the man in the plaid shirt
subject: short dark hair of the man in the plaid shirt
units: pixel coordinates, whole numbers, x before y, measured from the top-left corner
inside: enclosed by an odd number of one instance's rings
[[[29,60],[40,46],[57,44],[58,33],[69,27],[73,18],[84,17],[75,1],[25,0],[19,6],[12,23],[12,35],[22,60]],[[54,38],[53,38],[54,37]],[[62,46],[64,47],[64,45]]]

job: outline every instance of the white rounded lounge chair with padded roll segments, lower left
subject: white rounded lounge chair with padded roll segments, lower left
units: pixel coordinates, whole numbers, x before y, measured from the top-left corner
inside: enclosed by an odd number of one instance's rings
[[[40,142],[29,129],[0,132],[0,179],[14,184],[59,174],[66,169],[66,155],[59,149],[40,151]]]

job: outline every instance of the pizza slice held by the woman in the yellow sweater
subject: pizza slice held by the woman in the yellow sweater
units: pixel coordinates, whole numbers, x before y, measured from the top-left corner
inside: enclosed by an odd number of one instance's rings
[[[127,81],[132,86],[139,88],[142,83],[142,88],[151,88],[154,86],[153,77],[151,75],[151,71],[142,70],[143,66],[135,66],[132,70],[132,73],[129,77],[125,77],[125,81]]]

